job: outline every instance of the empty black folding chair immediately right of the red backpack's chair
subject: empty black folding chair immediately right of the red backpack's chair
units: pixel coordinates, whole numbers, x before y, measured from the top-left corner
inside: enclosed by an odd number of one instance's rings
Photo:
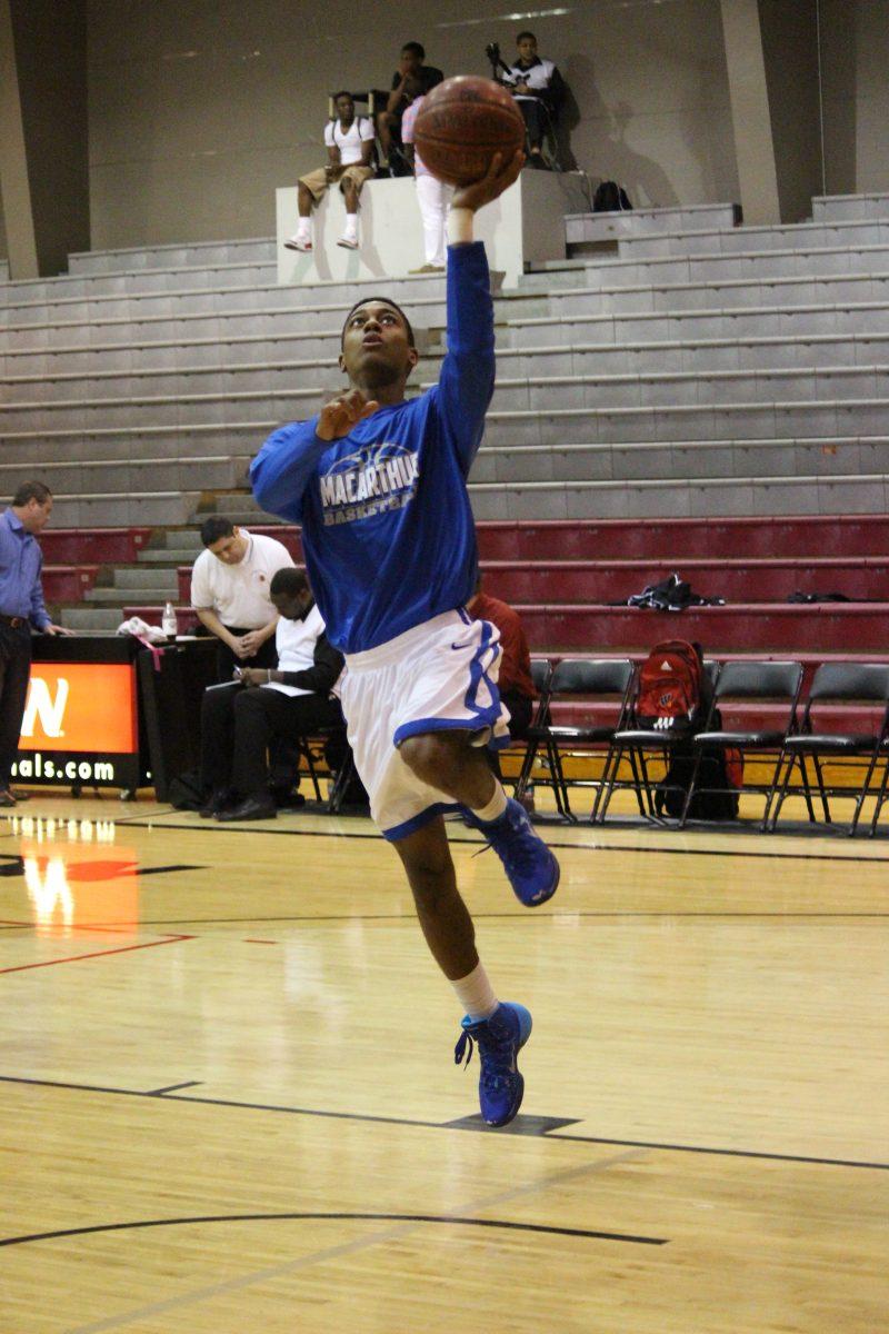
[[[692,803],[698,792],[736,792],[734,788],[714,788],[701,784],[701,766],[705,755],[713,755],[713,752],[725,752],[729,750],[740,751],[742,759],[746,759],[750,754],[781,754],[785,738],[792,736],[798,730],[797,706],[800,703],[801,686],[802,663],[746,662],[724,664],[716,680],[716,686],[713,687],[713,699],[704,730],[692,738],[694,767],[692,770],[692,782],[689,783],[689,788],[685,795],[685,806],[682,807],[680,828],[685,828],[689,811],[692,810]],[[732,702],[748,702],[757,699],[768,699],[773,703],[782,703],[789,707],[782,727],[744,732],[713,731],[713,720],[717,708]],[[778,763],[776,762],[772,770],[772,778],[766,784],[745,783],[742,787],[742,791],[745,792],[758,792],[765,796],[765,808],[762,811],[760,831],[765,830],[778,778]],[[808,790],[806,800],[810,803]]]

